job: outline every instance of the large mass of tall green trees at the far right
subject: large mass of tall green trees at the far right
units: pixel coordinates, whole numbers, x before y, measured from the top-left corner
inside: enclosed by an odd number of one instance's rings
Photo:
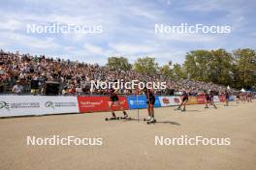
[[[232,87],[255,86],[256,58],[253,49],[194,50],[186,54],[184,69],[188,78]]]

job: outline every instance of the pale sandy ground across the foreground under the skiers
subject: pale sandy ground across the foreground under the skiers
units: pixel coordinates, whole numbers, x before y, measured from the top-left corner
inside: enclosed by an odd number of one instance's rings
[[[256,169],[256,102],[218,109],[188,105],[155,109],[157,123],[104,119],[110,113],[0,119],[0,169]],[[117,112],[118,115],[121,113]],[[137,118],[137,110],[128,111]],[[102,138],[102,146],[27,146],[27,136]],[[229,146],[155,146],[155,136],[230,138]]]

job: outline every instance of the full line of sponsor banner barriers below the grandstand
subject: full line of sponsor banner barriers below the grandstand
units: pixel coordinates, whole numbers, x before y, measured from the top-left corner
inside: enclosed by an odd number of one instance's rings
[[[146,108],[146,98],[139,96],[120,96],[124,109]],[[214,96],[215,102],[225,101],[225,97]],[[234,97],[230,97],[234,100]],[[65,113],[88,113],[109,111],[109,97],[49,97],[49,96],[0,96],[0,117],[50,115]],[[175,106],[181,102],[180,97],[156,97],[155,107]],[[203,104],[204,97],[189,97],[188,104]],[[113,105],[113,110],[119,110]]]

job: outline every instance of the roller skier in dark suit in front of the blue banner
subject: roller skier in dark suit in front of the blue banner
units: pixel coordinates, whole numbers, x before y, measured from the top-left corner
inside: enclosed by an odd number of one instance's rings
[[[146,119],[147,122],[154,122],[154,103],[155,103],[155,97],[152,90],[144,88],[144,95],[146,98],[146,104],[147,104],[147,113],[148,118]]]

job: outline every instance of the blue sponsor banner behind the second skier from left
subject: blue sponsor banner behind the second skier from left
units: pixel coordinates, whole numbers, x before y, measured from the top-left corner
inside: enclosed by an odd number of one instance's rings
[[[137,109],[138,107],[139,108],[147,107],[146,98],[144,95],[139,95],[138,97],[136,95],[127,96],[127,101],[130,109]],[[158,97],[155,97],[154,107],[161,107],[161,103]]]

